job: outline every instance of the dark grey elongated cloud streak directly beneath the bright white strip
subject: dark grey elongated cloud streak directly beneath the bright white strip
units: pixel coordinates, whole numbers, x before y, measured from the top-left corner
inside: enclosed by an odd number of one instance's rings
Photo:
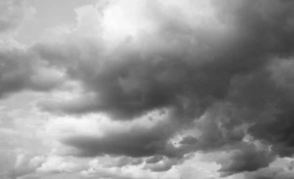
[[[71,155],[80,157],[105,154],[127,157],[182,157],[184,153],[169,141],[174,130],[175,126],[169,123],[158,124],[149,129],[134,126],[128,131],[113,131],[103,137],[74,135],[64,138],[62,143],[78,149]]]

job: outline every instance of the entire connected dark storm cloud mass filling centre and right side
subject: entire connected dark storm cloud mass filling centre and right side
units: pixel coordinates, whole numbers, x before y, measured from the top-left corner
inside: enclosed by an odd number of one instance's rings
[[[290,112],[294,104],[294,2],[211,2],[217,13],[215,22],[202,26],[191,24],[172,7],[147,3],[147,10],[152,8],[156,16],[154,33],[142,32],[111,53],[106,53],[107,44],[99,38],[76,43],[80,40],[76,37],[76,41],[30,48],[49,67],[62,69],[69,79],[79,82],[85,94],[68,101],[42,101],[43,110],[103,112],[113,120],[129,121],[167,108],[173,111],[170,121],[179,123],[168,132],[163,132],[167,126],[160,125],[155,130],[114,132],[100,138],[63,139],[78,149],[73,155],[170,157],[167,163],[150,165],[153,171],[163,171],[174,164],[173,157],[226,149],[232,150],[230,162],[220,172],[228,176],[267,167],[275,155],[294,153],[294,115]],[[146,16],[154,21],[151,13]],[[21,87],[10,86],[23,89],[24,81],[16,78],[15,84]],[[177,132],[193,127],[201,134],[180,142],[189,145],[176,148],[169,142]],[[253,144],[234,148],[246,132],[271,145],[273,152]]]

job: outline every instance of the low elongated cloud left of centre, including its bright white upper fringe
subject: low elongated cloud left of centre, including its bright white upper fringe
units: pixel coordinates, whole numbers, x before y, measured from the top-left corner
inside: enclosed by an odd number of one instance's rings
[[[109,121],[109,124],[105,124],[110,126],[105,125],[106,129],[100,134],[72,133],[68,136],[61,135],[60,141],[77,149],[69,153],[70,155],[80,157],[105,154],[128,157],[151,157],[156,154],[181,157],[184,153],[169,140],[177,129],[176,123],[172,123],[169,117],[169,113],[159,111],[150,112],[149,115],[132,122],[118,122],[117,127],[111,126],[113,123]]]

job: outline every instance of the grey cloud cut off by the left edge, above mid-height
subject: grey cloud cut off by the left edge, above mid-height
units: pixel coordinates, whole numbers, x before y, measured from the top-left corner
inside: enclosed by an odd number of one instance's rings
[[[42,67],[49,70],[30,51],[17,47],[0,49],[0,98],[21,90],[49,91],[60,87],[62,76],[42,74]]]

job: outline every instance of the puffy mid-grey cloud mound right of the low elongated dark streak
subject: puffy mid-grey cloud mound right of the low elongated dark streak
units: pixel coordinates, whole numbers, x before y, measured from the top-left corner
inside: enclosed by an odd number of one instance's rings
[[[241,110],[242,111],[242,110]],[[190,125],[198,136],[187,136],[179,142],[185,152],[215,152],[231,150],[245,137],[246,126],[239,118],[242,113],[231,102],[216,102],[204,115]],[[193,129],[195,128],[195,129]]]

